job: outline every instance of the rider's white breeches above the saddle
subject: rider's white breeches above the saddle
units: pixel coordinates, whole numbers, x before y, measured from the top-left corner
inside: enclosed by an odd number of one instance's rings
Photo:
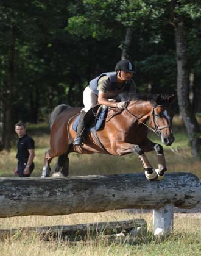
[[[87,112],[88,110],[90,110],[90,108],[94,107],[94,105],[97,104],[97,95],[94,93],[93,90],[91,90],[89,86],[86,87],[83,91],[83,104],[85,107],[82,108],[82,110],[84,110],[85,112]]]

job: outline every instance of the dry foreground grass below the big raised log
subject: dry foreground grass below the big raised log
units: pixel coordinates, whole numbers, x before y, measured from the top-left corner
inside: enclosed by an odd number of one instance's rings
[[[127,237],[120,241],[109,241],[101,237],[90,238],[80,242],[67,240],[43,241],[35,233],[12,236],[0,241],[1,255],[139,255],[139,256],[198,256],[201,250],[201,219],[176,217],[174,219],[174,234],[158,241],[152,233],[152,215],[150,213],[116,210],[104,213],[79,213],[65,216],[26,216],[0,219],[0,227],[51,226],[59,224],[74,224],[116,219],[144,218],[149,232],[138,243],[132,244]]]

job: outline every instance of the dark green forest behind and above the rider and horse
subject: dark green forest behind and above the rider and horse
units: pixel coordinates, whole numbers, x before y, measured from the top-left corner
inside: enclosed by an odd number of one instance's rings
[[[193,157],[201,158],[200,0],[0,0],[0,141],[18,121],[48,123],[58,104],[120,59],[141,93],[175,94]]]

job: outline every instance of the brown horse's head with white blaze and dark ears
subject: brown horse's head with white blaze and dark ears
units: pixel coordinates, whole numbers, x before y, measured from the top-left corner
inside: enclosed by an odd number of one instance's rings
[[[150,114],[150,126],[152,126],[155,132],[161,136],[161,141],[166,146],[170,146],[174,142],[172,132],[173,113],[170,107],[173,99],[174,95],[157,95],[153,102],[152,112]]]

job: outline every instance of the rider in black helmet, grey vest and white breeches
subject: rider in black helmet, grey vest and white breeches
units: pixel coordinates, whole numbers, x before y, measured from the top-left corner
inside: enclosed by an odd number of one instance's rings
[[[132,79],[133,73],[135,73],[133,63],[130,60],[120,60],[116,64],[115,71],[102,73],[90,81],[90,84],[83,91],[83,104],[85,107],[80,113],[74,145],[83,145],[83,131],[85,130],[84,116],[94,105],[99,103],[107,107],[125,107],[125,101],[116,102],[110,99],[115,98],[118,94],[125,91],[136,93],[136,85]]]

